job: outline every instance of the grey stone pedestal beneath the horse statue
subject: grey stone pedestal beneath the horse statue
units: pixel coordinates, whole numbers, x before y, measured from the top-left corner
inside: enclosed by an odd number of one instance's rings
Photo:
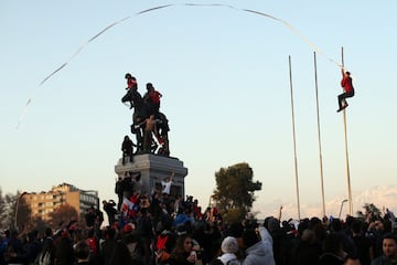
[[[157,156],[152,153],[133,156],[133,162],[122,165],[121,159],[115,166],[115,172],[119,178],[125,178],[126,172],[140,172],[142,181],[142,193],[150,193],[155,186],[161,187],[161,180],[170,177],[172,171],[175,172],[171,194],[179,194],[184,198],[184,178],[187,174],[187,168],[178,158]]]

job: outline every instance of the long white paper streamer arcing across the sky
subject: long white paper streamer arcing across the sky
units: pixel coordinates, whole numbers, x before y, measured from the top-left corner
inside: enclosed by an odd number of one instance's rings
[[[266,17],[268,19],[278,21],[280,23],[282,23],[283,25],[286,25],[289,30],[291,30],[294,34],[297,34],[300,39],[302,39],[312,50],[314,50],[316,53],[323,55],[325,59],[328,59],[330,62],[336,64],[336,66],[342,67],[342,65],[340,63],[337,63],[335,60],[328,57],[323,52],[321,52],[320,49],[318,49],[309,39],[307,39],[304,35],[302,35],[293,25],[291,25],[290,23],[288,23],[285,20],[278,19],[276,17],[272,17],[270,14],[264,13],[264,12],[259,12],[256,10],[250,10],[250,9],[238,9],[235,8],[233,6],[228,6],[228,4],[223,4],[223,3],[169,3],[169,4],[164,4],[164,6],[159,6],[159,7],[154,7],[154,8],[150,8],[150,9],[146,9],[142,11],[137,12],[135,15],[141,15],[141,14],[146,14],[152,11],[157,11],[160,9],[165,9],[165,8],[171,8],[174,6],[185,6],[185,7],[221,7],[221,8],[229,8],[229,9],[234,9],[240,12],[248,12],[251,14],[257,14],[257,15],[261,15],[261,17]],[[77,51],[65,62],[63,63],[60,67],[57,67],[55,71],[53,71],[50,75],[47,75],[42,82],[40,82],[39,87],[42,86],[45,82],[47,82],[52,76],[54,76],[56,73],[58,73],[61,70],[63,70],[72,60],[74,60],[92,41],[94,41],[95,39],[97,39],[98,36],[100,36],[101,34],[104,34],[106,31],[110,30],[111,28],[114,28],[117,24],[122,23],[124,21],[130,19],[131,15],[126,17],[124,19],[120,19],[111,24],[109,24],[108,26],[106,26],[105,29],[103,29],[101,31],[99,31],[97,34],[95,34],[93,38],[90,38],[88,41],[86,41],[82,46],[79,46],[77,49]],[[22,110],[22,114],[20,116],[19,123],[17,125],[17,129],[20,127],[20,125],[22,124],[22,120],[26,114],[26,109],[29,107],[29,105],[32,103],[33,97],[31,96],[28,100],[26,104]]]

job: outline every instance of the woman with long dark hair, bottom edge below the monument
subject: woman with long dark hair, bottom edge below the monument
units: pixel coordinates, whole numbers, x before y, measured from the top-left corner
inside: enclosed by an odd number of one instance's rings
[[[197,254],[193,250],[193,239],[189,234],[178,237],[175,247],[171,252],[170,265],[192,265],[197,261]]]

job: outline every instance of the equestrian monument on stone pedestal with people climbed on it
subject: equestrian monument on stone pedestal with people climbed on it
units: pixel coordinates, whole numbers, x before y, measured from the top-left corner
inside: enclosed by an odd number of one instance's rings
[[[171,194],[184,198],[184,178],[187,169],[183,161],[170,157],[170,128],[165,115],[159,110],[162,95],[148,83],[147,93],[142,97],[138,92],[137,80],[129,73],[126,74],[126,78],[127,94],[121,102],[130,103],[129,108],[133,108],[131,134],[136,136],[136,151],[132,151],[132,145],[128,150],[125,150],[122,145],[124,156],[115,166],[115,172],[119,179],[140,173],[142,194],[150,194],[155,188],[161,191],[161,181],[174,172]]]

